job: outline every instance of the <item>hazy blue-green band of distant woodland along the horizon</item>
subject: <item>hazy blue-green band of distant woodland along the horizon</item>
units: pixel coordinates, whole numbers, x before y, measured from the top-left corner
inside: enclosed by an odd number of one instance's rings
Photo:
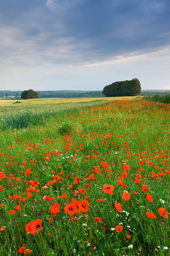
[[[23,91],[0,91],[1,99],[21,99]],[[75,91],[75,90],[60,90],[60,91],[38,91],[39,98],[82,98],[82,97],[104,97],[101,91]],[[170,90],[141,90],[140,96],[170,94]]]

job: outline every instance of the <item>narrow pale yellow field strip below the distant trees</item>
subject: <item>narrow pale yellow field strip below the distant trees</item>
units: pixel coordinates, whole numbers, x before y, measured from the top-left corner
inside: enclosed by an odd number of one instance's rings
[[[13,105],[28,105],[28,104],[42,104],[42,103],[64,103],[64,102],[83,102],[83,101],[97,101],[97,100],[120,100],[120,99],[134,99],[135,97],[98,97],[98,98],[48,98],[48,99],[25,99],[25,100],[2,100],[0,99],[0,106]]]

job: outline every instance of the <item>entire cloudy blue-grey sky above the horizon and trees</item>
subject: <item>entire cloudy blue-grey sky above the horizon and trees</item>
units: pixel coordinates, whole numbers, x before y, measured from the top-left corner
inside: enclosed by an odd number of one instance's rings
[[[170,90],[170,0],[0,0],[0,90]]]

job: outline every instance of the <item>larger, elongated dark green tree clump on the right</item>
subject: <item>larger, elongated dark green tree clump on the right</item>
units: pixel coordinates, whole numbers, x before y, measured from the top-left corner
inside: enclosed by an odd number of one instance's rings
[[[106,97],[136,96],[140,94],[141,84],[137,78],[132,80],[114,82],[103,88],[102,94]]]

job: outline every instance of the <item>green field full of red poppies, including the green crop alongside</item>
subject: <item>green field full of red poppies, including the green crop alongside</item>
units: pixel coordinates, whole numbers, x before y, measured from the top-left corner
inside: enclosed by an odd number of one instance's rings
[[[0,106],[0,254],[170,255],[170,104],[65,100]]]

